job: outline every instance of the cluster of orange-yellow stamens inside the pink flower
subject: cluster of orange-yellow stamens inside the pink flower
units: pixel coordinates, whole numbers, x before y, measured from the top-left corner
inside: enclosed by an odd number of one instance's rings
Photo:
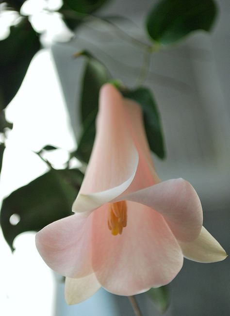
[[[108,227],[113,235],[121,234],[127,225],[127,205],[125,201],[109,203]]]

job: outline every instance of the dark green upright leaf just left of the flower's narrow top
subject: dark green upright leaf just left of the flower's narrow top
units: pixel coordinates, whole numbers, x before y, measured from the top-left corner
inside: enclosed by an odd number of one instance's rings
[[[100,87],[109,80],[107,69],[98,60],[93,58],[87,51],[82,55],[86,56],[86,64],[82,80],[81,112],[82,122],[98,110]]]

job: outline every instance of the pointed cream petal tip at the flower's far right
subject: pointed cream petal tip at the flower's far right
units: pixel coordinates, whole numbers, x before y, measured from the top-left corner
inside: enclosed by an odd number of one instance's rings
[[[228,255],[218,241],[202,226],[199,236],[192,242],[181,243],[185,258],[210,263],[224,260]]]

